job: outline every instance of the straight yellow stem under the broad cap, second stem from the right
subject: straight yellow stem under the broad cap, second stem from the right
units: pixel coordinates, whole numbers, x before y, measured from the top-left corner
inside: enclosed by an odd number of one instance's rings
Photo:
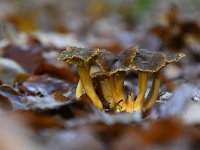
[[[142,109],[144,96],[147,89],[147,73],[139,71],[138,79],[138,95],[134,104],[134,111],[140,111]]]

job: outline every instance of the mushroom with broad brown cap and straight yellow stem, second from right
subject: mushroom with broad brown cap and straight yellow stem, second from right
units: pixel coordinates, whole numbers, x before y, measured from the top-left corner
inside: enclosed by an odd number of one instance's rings
[[[165,55],[160,52],[150,52],[145,49],[138,49],[134,57],[132,68],[138,71],[138,95],[134,104],[134,111],[140,111],[147,89],[148,75],[157,72],[166,64]]]

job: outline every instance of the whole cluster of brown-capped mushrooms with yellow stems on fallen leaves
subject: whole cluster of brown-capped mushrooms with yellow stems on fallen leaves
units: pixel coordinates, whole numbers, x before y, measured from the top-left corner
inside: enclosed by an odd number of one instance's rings
[[[85,93],[100,110],[108,107],[117,112],[133,112],[144,111],[155,104],[160,87],[160,70],[184,56],[183,53],[166,55],[138,47],[125,49],[117,56],[105,49],[68,47],[58,60],[77,67],[80,80],[76,98]],[[131,70],[138,73],[137,97],[133,92],[126,95],[124,91],[125,75]],[[145,97],[148,77],[152,77],[153,82]]]

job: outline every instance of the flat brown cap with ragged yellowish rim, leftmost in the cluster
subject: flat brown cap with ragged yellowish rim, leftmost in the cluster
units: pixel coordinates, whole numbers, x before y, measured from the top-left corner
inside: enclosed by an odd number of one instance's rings
[[[61,52],[58,60],[67,61],[71,64],[88,62],[98,53],[99,49],[67,47],[66,50]]]

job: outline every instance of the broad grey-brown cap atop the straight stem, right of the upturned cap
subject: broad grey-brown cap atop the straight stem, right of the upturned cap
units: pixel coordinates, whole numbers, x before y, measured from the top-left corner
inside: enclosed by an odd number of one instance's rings
[[[166,56],[161,52],[138,49],[131,68],[142,72],[157,72],[166,65]]]

